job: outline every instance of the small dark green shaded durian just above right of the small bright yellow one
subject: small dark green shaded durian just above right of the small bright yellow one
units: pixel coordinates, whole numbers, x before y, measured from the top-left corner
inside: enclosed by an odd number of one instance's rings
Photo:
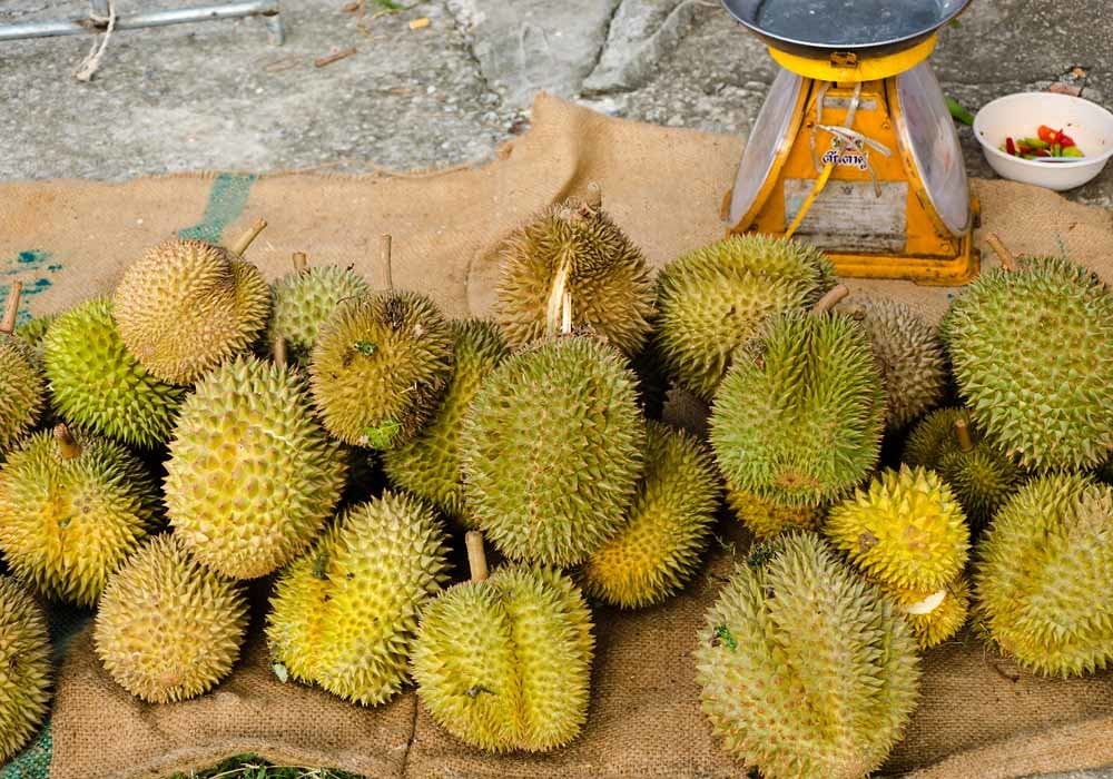
[[[962,408],[939,408],[913,428],[903,460],[936,471],[951,485],[971,527],[981,532],[1008,496],[1024,483],[1024,472],[971,424]]]

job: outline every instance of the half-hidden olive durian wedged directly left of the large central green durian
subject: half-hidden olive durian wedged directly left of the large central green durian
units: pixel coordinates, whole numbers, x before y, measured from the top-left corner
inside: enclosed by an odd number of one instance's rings
[[[454,368],[433,418],[410,443],[383,452],[391,481],[424,497],[453,520],[469,524],[460,436],[464,414],[480,385],[510,354],[499,326],[483,319],[450,323]]]

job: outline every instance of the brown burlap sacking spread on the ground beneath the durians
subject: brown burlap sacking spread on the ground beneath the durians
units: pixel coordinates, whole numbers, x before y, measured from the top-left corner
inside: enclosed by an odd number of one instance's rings
[[[398,287],[433,295],[451,315],[492,303],[492,247],[539,207],[600,181],[618,223],[660,265],[717,239],[738,139],[610,119],[541,97],[533,129],[479,169],[436,175],[179,176],[119,185],[0,185],[0,284],[20,277],[37,312],[108,293],[149,244],[186,233],[234,236],[265,216],[249,256],[269,276],[294,250],[353,263],[375,278],[377,236],[395,241]],[[1113,280],[1109,213],[1001,181],[978,181],[987,228],[1021,253],[1058,253]],[[953,290],[855,282],[937,317]],[[2,294],[0,288],[0,294]],[[1023,334],[1018,334],[1023,335]],[[691,650],[702,613],[745,549],[729,522],[686,593],[657,609],[597,612],[599,653],[588,727],[568,749],[494,758],[441,731],[413,693],[359,709],[282,684],[256,640],[216,692],[164,707],[125,694],[96,661],[88,633],[60,670],[56,779],[157,777],[243,751],[373,777],[735,777],[699,711]],[[918,777],[1016,777],[1113,762],[1113,680],[1033,678],[974,639],[928,652],[923,700],[887,771]]]

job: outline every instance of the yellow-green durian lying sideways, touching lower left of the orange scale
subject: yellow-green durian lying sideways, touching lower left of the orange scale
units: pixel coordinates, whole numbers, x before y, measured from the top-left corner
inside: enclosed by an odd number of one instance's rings
[[[809,308],[835,286],[823,253],[792,240],[732,236],[657,277],[657,345],[668,373],[710,401],[735,349],[777,312]]]

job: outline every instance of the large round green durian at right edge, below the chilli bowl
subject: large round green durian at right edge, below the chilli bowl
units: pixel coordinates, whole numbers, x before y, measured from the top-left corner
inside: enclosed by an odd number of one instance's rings
[[[993,268],[942,334],[971,417],[1034,471],[1089,469],[1113,450],[1113,293],[1058,257]]]

